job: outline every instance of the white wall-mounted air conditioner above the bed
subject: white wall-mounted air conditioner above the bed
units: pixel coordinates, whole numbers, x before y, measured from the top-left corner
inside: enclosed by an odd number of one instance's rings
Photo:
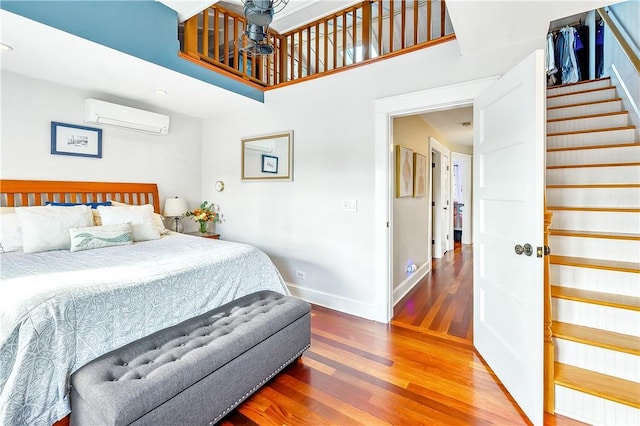
[[[155,135],[169,133],[169,116],[167,115],[99,101],[98,99],[85,99],[84,121]]]

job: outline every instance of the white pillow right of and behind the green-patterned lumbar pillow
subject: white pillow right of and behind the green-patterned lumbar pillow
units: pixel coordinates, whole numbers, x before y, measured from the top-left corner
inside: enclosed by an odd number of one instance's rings
[[[103,225],[131,223],[133,241],[157,240],[160,232],[153,221],[153,206],[98,206]]]

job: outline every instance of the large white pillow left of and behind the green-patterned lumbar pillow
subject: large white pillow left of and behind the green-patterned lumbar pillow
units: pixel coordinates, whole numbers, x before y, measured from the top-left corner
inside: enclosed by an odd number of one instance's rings
[[[22,250],[37,253],[71,247],[69,228],[93,225],[89,206],[16,207],[22,228]]]

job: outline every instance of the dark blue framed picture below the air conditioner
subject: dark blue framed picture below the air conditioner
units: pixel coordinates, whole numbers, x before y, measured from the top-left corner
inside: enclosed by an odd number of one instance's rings
[[[52,121],[51,153],[102,158],[102,129]]]

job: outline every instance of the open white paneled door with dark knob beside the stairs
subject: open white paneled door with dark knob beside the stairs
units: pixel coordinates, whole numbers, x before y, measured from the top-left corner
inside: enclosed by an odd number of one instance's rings
[[[474,102],[474,345],[543,422],[545,81],[535,51]],[[529,244],[533,253],[516,254]]]

